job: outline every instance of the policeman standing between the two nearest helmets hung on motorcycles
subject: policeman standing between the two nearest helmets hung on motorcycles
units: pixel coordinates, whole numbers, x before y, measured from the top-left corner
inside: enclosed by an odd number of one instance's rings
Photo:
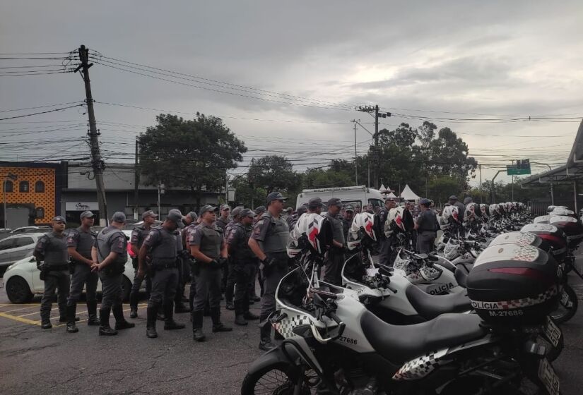
[[[332,197],[328,200],[326,218],[332,227],[332,244],[324,262],[324,281],[337,286],[340,286],[342,283],[341,270],[344,263],[344,248],[346,246],[343,224],[341,219],[338,218],[341,208],[342,200],[340,198]]]

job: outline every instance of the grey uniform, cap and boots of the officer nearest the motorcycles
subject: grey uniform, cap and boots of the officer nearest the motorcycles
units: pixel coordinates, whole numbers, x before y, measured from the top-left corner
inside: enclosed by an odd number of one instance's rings
[[[268,201],[285,200],[279,194],[278,197],[271,198]],[[268,203],[269,204],[269,203]],[[290,237],[290,228],[285,219],[273,217],[269,211],[261,215],[261,219],[255,224],[251,238],[259,244],[259,248],[266,255],[266,260],[261,263],[260,269],[264,282],[264,293],[261,298],[261,315],[259,320],[264,322],[271,312],[276,310],[276,288],[279,281],[288,273],[288,238]],[[266,266],[266,263],[269,264]],[[271,344],[271,327],[269,325],[261,326],[261,344]]]

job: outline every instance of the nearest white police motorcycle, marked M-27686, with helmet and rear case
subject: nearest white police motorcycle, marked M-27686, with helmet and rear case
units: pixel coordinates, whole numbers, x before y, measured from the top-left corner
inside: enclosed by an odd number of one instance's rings
[[[252,363],[242,395],[560,394],[537,343],[541,327],[553,333],[546,318],[557,297],[552,257],[519,246],[484,253],[469,278],[478,314],[392,325],[368,311],[356,291],[322,287],[330,237],[322,222],[314,214],[296,224],[302,265],[280,281],[269,318],[284,340]],[[513,274],[517,268],[544,275]]]

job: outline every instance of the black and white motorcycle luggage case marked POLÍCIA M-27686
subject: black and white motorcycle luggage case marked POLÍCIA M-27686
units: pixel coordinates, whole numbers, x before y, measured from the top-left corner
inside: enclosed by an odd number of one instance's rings
[[[501,244],[480,254],[467,279],[471,305],[493,325],[538,324],[558,302],[558,265],[540,248]]]

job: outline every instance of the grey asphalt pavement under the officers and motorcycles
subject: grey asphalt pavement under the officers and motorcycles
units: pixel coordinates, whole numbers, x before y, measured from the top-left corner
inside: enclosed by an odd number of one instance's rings
[[[583,301],[583,281],[573,277],[572,284]],[[164,331],[158,322],[158,339],[148,339],[142,304],[139,318],[130,320],[135,328],[108,337],[86,325],[86,308],[79,305],[79,332],[67,334],[64,324],[59,325],[56,303],[54,327],[40,329],[39,302],[35,298],[28,305],[13,305],[0,288],[2,394],[239,394],[249,364],[261,355],[257,321],[213,334],[210,317],[205,317],[207,341],[194,343],[189,314],[179,314],[176,320],[187,324],[186,329]],[[258,308],[255,303],[252,311],[259,314]],[[129,306],[124,309],[127,317]],[[233,319],[233,312],[223,308],[223,322],[232,324]],[[565,349],[553,365],[563,395],[580,394],[583,312],[562,329]]]

